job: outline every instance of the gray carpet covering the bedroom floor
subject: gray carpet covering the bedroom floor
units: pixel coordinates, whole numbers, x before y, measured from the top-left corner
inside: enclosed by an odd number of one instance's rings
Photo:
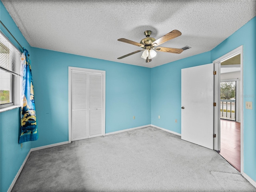
[[[256,192],[216,151],[147,127],[31,152],[12,192]]]

